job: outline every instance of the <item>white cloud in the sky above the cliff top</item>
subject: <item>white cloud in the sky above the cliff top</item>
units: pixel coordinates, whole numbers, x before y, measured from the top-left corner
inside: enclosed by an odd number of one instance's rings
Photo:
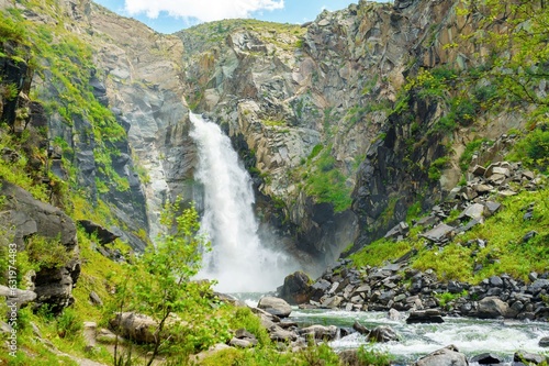
[[[284,0],[125,0],[130,15],[146,14],[156,19],[161,11],[171,16],[197,18],[200,21],[248,18],[258,10],[284,8]]]

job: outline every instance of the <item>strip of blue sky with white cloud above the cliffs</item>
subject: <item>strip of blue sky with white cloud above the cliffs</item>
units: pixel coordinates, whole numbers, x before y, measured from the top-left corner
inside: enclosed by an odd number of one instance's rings
[[[279,23],[312,21],[324,9],[347,8],[358,0],[94,0],[135,18],[161,33],[173,33],[201,22],[254,18]],[[380,0],[377,0],[380,1]]]

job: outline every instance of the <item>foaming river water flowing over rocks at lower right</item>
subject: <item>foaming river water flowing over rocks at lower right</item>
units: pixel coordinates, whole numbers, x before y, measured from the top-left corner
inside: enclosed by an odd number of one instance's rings
[[[237,295],[246,303],[256,307],[260,295]],[[468,358],[493,353],[505,362],[513,361],[517,351],[547,354],[549,350],[538,345],[539,340],[549,336],[549,323],[514,320],[479,320],[445,317],[441,324],[406,324],[407,313],[400,320],[390,320],[385,312],[350,312],[343,310],[301,310],[294,307],[290,320],[300,326],[312,324],[352,328],[359,321],[368,329],[378,325],[391,326],[400,336],[399,342],[377,343],[371,346],[394,356],[397,365],[410,365],[417,358],[453,344]],[[329,343],[336,351],[358,348],[368,344],[363,335],[352,333]],[[475,365],[475,364],[471,364]]]

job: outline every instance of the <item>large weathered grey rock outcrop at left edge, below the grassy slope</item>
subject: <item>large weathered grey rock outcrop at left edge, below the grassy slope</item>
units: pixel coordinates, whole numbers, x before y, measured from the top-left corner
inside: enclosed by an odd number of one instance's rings
[[[35,200],[26,190],[0,182],[0,195],[5,197],[1,225],[14,228],[13,242],[19,251],[25,249],[25,239],[40,235],[59,243],[70,253],[70,258],[54,268],[41,268],[34,280],[35,303],[47,303],[54,311],[71,304],[72,287],[80,275],[80,258],[76,237],[76,225],[58,208]]]

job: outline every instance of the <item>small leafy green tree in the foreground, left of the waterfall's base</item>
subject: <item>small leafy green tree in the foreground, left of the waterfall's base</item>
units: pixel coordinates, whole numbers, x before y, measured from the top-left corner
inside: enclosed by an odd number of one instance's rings
[[[194,206],[181,212],[180,203],[178,199],[166,204],[160,220],[166,232],[160,235],[156,247],[148,247],[143,256],[128,265],[124,281],[116,289],[117,312],[137,311],[152,317],[158,324],[150,330],[154,344],[147,366],[161,350],[168,350],[175,334],[186,334],[180,319],[170,323],[171,314],[203,314],[210,309],[205,297],[211,291],[210,282],[190,280],[201,268],[202,253],[210,249],[210,243],[199,234],[199,215]],[[194,325],[186,321],[184,326]],[[178,344],[181,346],[184,344]],[[115,354],[115,365],[116,357]]]

